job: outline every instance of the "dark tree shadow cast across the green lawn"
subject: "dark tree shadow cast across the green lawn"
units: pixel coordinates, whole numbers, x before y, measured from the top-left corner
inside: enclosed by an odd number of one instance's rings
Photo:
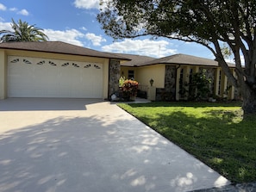
[[[158,114],[153,119],[143,116],[140,120],[234,183],[253,182],[256,177],[255,121],[253,124],[233,121],[237,111],[206,113],[208,117],[197,117],[197,114],[176,111]]]

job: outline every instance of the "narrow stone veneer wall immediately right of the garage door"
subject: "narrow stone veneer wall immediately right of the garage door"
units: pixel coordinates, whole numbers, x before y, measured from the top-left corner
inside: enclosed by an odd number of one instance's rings
[[[120,78],[120,61],[115,59],[109,60],[109,98],[119,89]]]

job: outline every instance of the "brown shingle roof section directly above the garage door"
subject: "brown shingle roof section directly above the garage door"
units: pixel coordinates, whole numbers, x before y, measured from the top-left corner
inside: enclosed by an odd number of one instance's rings
[[[62,53],[79,56],[89,56],[108,59],[129,60],[121,55],[113,53],[98,52],[83,46],[74,46],[61,41],[29,41],[29,42],[6,42],[0,43],[0,48],[44,52],[44,53]]]

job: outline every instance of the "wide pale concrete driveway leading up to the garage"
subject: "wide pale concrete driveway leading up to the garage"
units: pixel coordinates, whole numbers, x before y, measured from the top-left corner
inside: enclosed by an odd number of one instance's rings
[[[0,192],[172,192],[229,184],[116,104],[0,101]]]

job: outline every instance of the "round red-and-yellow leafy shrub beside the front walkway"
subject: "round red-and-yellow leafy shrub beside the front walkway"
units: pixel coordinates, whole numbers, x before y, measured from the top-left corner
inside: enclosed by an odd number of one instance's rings
[[[131,97],[137,96],[138,86],[139,84],[137,81],[128,79],[122,82],[120,90],[122,90],[124,97],[128,97],[128,99],[130,99]]]

